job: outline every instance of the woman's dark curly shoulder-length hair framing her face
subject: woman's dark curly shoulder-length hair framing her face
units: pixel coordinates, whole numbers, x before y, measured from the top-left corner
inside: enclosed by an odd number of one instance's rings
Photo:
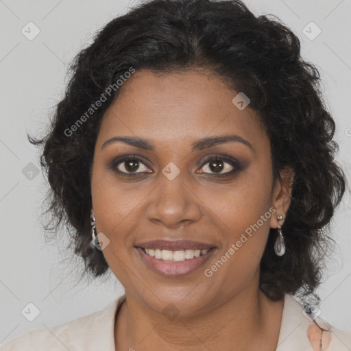
[[[297,36],[276,16],[255,16],[239,0],[146,1],[110,21],[77,54],[50,131],[38,139],[28,135],[32,144],[43,145],[40,165],[51,186],[46,213],[53,216],[46,230],[57,235],[63,220],[70,246],[83,258],[84,274],[99,277],[108,271],[104,255],[90,245],[87,175],[104,112],[121,89],[114,89],[74,133],[68,136],[67,130],[130,67],[157,73],[207,69],[250,97],[271,142],[274,180],[281,180],[285,167],[295,172],[282,227],[287,251],[274,254],[277,230],[271,228],[260,288],[272,300],[285,293],[315,293],[322,258],[334,243],[329,222],[346,189],[335,161],[335,121],[323,101],[319,71],[302,60]]]

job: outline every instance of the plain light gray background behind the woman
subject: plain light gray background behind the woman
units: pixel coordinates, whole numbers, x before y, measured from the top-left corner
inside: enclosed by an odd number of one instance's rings
[[[123,293],[114,278],[75,285],[67,252],[45,243],[38,219],[47,189],[37,151],[25,132],[42,132],[64,93],[66,65],[91,43],[93,34],[137,1],[0,0],[1,75],[1,253],[0,344],[34,328],[55,326],[92,313]],[[339,162],[350,179],[351,1],[252,0],[255,14],[276,14],[302,43],[302,56],[317,65],[328,109],[335,116]],[[40,29],[33,40],[21,30],[32,21]],[[313,21],[322,32],[311,40],[303,29]],[[317,27],[308,25],[311,38]],[[34,27],[31,27],[34,34]],[[32,164],[31,164],[32,162]],[[38,169],[38,173],[36,173]],[[32,173],[30,173],[32,171]],[[351,331],[351,204],[346,193],[332,220],[338,245],[319,289],[321,317]],[[40,314],[29,322],[21,311],[29,302]]]

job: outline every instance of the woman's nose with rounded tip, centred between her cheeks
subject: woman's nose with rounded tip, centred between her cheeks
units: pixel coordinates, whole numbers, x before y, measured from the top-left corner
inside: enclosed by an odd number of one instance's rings
[[[160,174],[158,186],[149,196],[147,219],[168,228],[195,223],[202,217],[200,204],[201,200],[180,175],[169,180]]]

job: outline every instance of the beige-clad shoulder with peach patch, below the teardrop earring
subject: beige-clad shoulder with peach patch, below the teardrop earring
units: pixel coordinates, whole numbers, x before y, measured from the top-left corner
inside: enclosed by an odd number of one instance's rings
[[[285,295],[277,351],[350,351],[351,333],[330,326],[318,317],[319,310],[313,310],[315,308],[302,306],[291,295]]]

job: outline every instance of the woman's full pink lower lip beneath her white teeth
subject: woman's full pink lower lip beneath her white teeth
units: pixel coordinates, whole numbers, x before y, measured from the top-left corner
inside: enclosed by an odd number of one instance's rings
[[[193,271],[204,265],[208,258],[214,254],[216,249],[209,250],[204,256],[194,257],[191,258],[191,260],[185,260],[183,262],[160,261],[157,258],[146,254],[141,247],[136,247],[136,250],[147,267],[161,276],[176,277],[191,274]]]

